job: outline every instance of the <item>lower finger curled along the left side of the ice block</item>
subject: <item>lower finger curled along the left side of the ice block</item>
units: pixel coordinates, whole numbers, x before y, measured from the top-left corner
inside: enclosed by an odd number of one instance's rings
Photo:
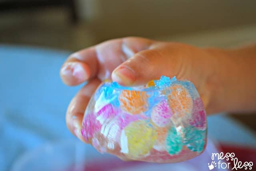
[[[81,135],[82,119],[84,117],[84,111],[92,96],[92,93],[100,85],[100,80],[93,79],[86,84],[76,96],[70,102],[66,113],[66,123],[68,129],[76,135],[79,139],[84,141]]]

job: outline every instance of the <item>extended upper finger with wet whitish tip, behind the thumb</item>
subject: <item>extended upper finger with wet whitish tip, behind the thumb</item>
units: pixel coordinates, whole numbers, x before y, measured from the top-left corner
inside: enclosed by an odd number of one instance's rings
[[[152,42],[144,38],[120,38],[80,50],[63,64],[60,76],[67,85],[78,85],[96,77],[111,79],[111,73],[118,65],[147,49]]]

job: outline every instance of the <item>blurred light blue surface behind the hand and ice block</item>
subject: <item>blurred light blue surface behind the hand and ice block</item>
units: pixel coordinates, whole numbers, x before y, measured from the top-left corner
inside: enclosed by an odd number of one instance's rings
[[[59,70],[70,52],[0,45],[0,171],[47,142],[75,139],[66,128],[68,103],[80,89],[64,85]],[[255,136],[227,117],[208,117],[216,140],[256,144]],[[91,153],[94,153],[92,151]]]

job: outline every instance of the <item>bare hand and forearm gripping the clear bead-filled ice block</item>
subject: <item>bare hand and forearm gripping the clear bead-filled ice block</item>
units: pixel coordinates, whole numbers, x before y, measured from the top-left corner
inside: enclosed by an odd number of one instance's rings
[[[109,40],[72,54],[63,64],[60,76],[65,84],[88,81],[70,102],[66,123],[84,141],[80,133],[84,111],[102,81],[134,86],[162,75],[193,82],[208,114],[255,111],[255,64],[255,45],[219,49],[136,37]]]

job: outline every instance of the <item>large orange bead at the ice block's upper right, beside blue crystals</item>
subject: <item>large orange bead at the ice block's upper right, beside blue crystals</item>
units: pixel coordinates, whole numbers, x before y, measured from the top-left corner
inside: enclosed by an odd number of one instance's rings
[[[168,95],[168,103],[172,108],[174,115],[183,117],[186,113],[191,113],[193,109],[193,100],[189,91],[182,85],[172,85]]]

